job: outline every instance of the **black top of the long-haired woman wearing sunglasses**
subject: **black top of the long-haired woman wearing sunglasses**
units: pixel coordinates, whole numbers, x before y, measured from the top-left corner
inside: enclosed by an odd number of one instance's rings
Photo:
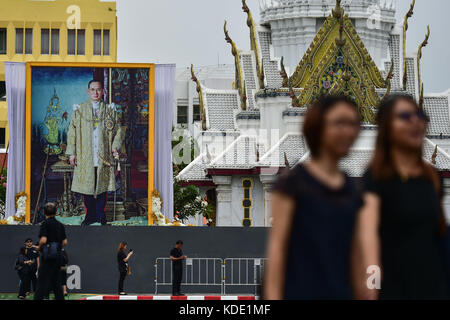
[[[364,185],[381,200],[380,299],[448,299],[440,195],[433,183],[424,177],[377,180],[367,171]]]

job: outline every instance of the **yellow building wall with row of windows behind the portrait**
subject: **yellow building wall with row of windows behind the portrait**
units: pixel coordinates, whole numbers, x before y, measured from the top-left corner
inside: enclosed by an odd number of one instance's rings
[[[70,7],[74,5],[79,8],[80,29],[85,29],[84,55],[67,54],[67,21],[74,15],[74,11],[70,10]],[[0,54],[0,81],[5,81],[5,61],[117,62],[117,17],[115,1],[1,0],[0,28],[7,29],[7,52],[6,54]],[[16,28],[33,29],[32,54],[15,53]],[[41,29],[52,28],[59,29],[59,54],[55,55],[50,52],[50,54],[42,55]],[[109,55],[94,55],[95,29],[109,30]],[[4,126],[5,121],[6,126]],[[7,122],[6,102],[0,101],[0,127],[6,127],[6,145],[8,144],[9,136]]]

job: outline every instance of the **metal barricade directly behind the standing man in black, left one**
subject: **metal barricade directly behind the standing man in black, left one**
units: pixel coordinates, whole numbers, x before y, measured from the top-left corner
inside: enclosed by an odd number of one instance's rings
[[[219,288],[223,294],[223,260],[220,258],[187,258],[183,262],[182,285]],[[157,258],[155,262],[155,294],[158,287],[172,286],[172,261]]]

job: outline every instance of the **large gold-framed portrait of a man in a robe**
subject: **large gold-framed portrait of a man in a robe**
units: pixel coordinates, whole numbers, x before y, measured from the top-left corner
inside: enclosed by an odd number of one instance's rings
[[[54,202],[67,225],[151,224],[154,71],[153,64],[27,63],[27,222],[43,220]]]

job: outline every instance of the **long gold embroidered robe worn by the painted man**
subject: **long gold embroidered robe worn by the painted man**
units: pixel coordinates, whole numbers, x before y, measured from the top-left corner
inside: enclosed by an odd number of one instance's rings
[[[121,113],[114,104],[100,102],[98,111],[98,168],[95,188],[94,170],[94,114],[92,102],[87,101],[74,108],[67,134],[66,155],[75,155],[72,191],[86,195],[97,195],[116,190],[113,150],[122,146]]]

